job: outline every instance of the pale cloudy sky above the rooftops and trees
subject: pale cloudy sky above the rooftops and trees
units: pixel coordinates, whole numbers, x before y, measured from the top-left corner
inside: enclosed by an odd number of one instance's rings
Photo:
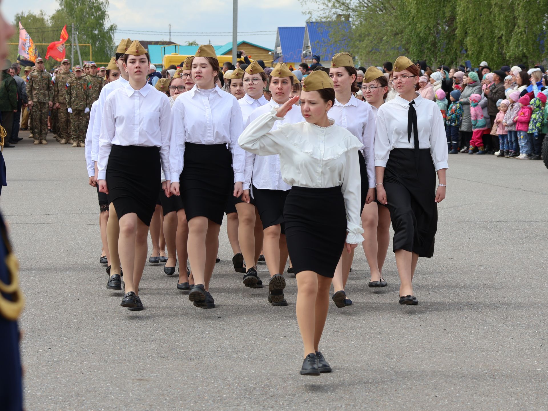
[[[155,9],[153,4],[157,4]],[[172,24],[172,41],[184,44],[196,40],[200,44],[225,44],[232,41],[232,1],[197,0],[180,2],[176,9],[169,2],[145,0],[110,0],[110,19],[118,26],[115,41],[130,37],[142,40],[168,40],[168,25]],[[188,5],[186,5],[188,4]],[[276,5],[274,5],[276,4]],[[57,2],[28,0],[26,2],[2,2],[1,8],[7,21],[13,21],[16,13],[43,9],[52,14]],[[249,42],[273,49],[278,26],[304,26],[307,14],[317,12],[318,7],[309,2],[302,6],[299,0],[239,0],[238,41]],[[124,31],[124,30],[132,30]],[[139,31],[139,32],[135,32]],[[147,33],[151,31],[155,33]],[[175,32],[230,32],[230,34],[179,35]],[[242,33],[265,32],[265,33]],[[32,37],[32,31],[29,30]],[[52,38],[52,41],[55,41]]]

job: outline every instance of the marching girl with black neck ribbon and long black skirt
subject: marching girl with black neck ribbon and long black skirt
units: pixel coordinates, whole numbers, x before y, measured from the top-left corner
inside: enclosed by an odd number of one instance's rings
[[[416,93],[419,69],[405,56],[394,63],[399,95],[380,106],[376,119],[377,197],[390,210],[399,304],[416,305],[413,275],[419,257],[431,257],[437,203],[446,196],[447,139],[437,104]],[[436,173],[438,187],[436,187]]]

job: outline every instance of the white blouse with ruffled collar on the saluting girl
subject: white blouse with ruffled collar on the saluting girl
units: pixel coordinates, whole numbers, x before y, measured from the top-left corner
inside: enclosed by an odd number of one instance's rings
[[[295,107],[289,111],[292,112]],[[298,187],[341,187],[346,207],[346,242],[363,241],[359,226],[361,181],[358,149],[361,142],[348,130],[334,124],[318,127],[306,121],[282,124],[272,130],[276,121],[272,108],[256,118],[238,139],[239,145],[258,156],[279,155],[282,177],[287,184]],[[321,207],[321,204],[318,205]]]

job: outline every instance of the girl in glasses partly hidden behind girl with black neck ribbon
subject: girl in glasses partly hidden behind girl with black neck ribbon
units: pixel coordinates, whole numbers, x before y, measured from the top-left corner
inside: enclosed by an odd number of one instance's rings
[[[383,72],[376,67],[369,67],[363,79],[362,92],[371,106],[373,118],[376,120],[379,107],[383,105],[389,93],[388,81]],[[366,204],[362,212],[362,229],[363,238],[367,240],[362,243],[363,251],[371,272],[369,287],[386,287],[382,271],[390,243],[389,209],[376,201]]]

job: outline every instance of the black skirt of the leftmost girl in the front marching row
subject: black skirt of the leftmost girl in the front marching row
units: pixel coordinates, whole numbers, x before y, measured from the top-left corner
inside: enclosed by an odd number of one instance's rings
[[[112,145],[106,169],[109,201],[118,219],[135,213],[147,226],[158,199],[160,153],[158,147]]]

